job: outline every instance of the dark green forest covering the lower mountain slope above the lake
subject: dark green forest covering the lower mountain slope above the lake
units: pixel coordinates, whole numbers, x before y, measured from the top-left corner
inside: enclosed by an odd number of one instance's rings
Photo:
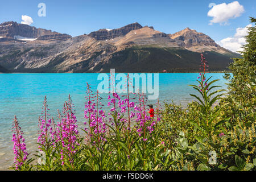
[[[205,51],[204,55],[210,63],[211,72],[227,71],[232,63],[230,57],[240,57],[237,53],[222,55],[214,51]],[[119,73],[154,73],[163,70],[168,73],[198,72],[198,57],[200,53],[187,49],[134,46],[114,53],[108,63],[100,63],[94,70],[109,72],[110,68],[115,68],[115,72]]]

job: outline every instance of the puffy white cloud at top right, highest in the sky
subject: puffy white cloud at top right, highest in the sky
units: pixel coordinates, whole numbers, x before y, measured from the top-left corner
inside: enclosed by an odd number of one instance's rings
[[[243,8],[243,6],[240,5],[238,1],[234,1],[232,3],[229,3],[228,5],[226,3],[222,3],[220,5],[213,6],[207,15],[213,17],[213,19],[210,20],[209,24],[228,24],[228,20],[230,18],[237,18],[241,16],[244,12],[245,9]]]

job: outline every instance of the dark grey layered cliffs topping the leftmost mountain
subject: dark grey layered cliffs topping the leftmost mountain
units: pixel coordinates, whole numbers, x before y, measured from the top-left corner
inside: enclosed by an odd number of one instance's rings
[[[4,22],[0,24],[0,36],[6,39],[15,39],[17,36],[22,38],[49,40],[49,39],[67,39],[70,35],[52,32],[43,28],[28,26],[16,22]]]

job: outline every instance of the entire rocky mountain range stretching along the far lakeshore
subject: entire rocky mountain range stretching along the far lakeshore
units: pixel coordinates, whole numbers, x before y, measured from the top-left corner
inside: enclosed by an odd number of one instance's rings
[[[136,22],[72,37],[16,22],[0,24],[0,72],[197,72],[200,53],[209,71],[224,71],[231,57],[241,56],[190,28],[166,34]]]

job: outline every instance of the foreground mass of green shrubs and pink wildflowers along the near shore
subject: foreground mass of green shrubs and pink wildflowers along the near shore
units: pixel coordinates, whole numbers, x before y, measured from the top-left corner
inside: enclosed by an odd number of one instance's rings
[[[254,26],[246,37],[242,59],[234,59],[230,65],[233,76],[225,75],[230,81],[228,94],[213,91],[218,80],[205,76],[208,64],[201,55],[199,85],[191,85],[198,91],[191,94],[196,101],[185,109],[158,102],[155,118],[148,117],[146,96],[141,93],[110,94],[110,111],[101,110],[101,97],[88,84],[84,135],[77,130],[71,97],[56,120],[49,118],[45,98],[39,117],[38,155],[28,157],[14,119],[15,168],[255,170],[255,36]],[[129,74],[126,81],[129,88]]]

